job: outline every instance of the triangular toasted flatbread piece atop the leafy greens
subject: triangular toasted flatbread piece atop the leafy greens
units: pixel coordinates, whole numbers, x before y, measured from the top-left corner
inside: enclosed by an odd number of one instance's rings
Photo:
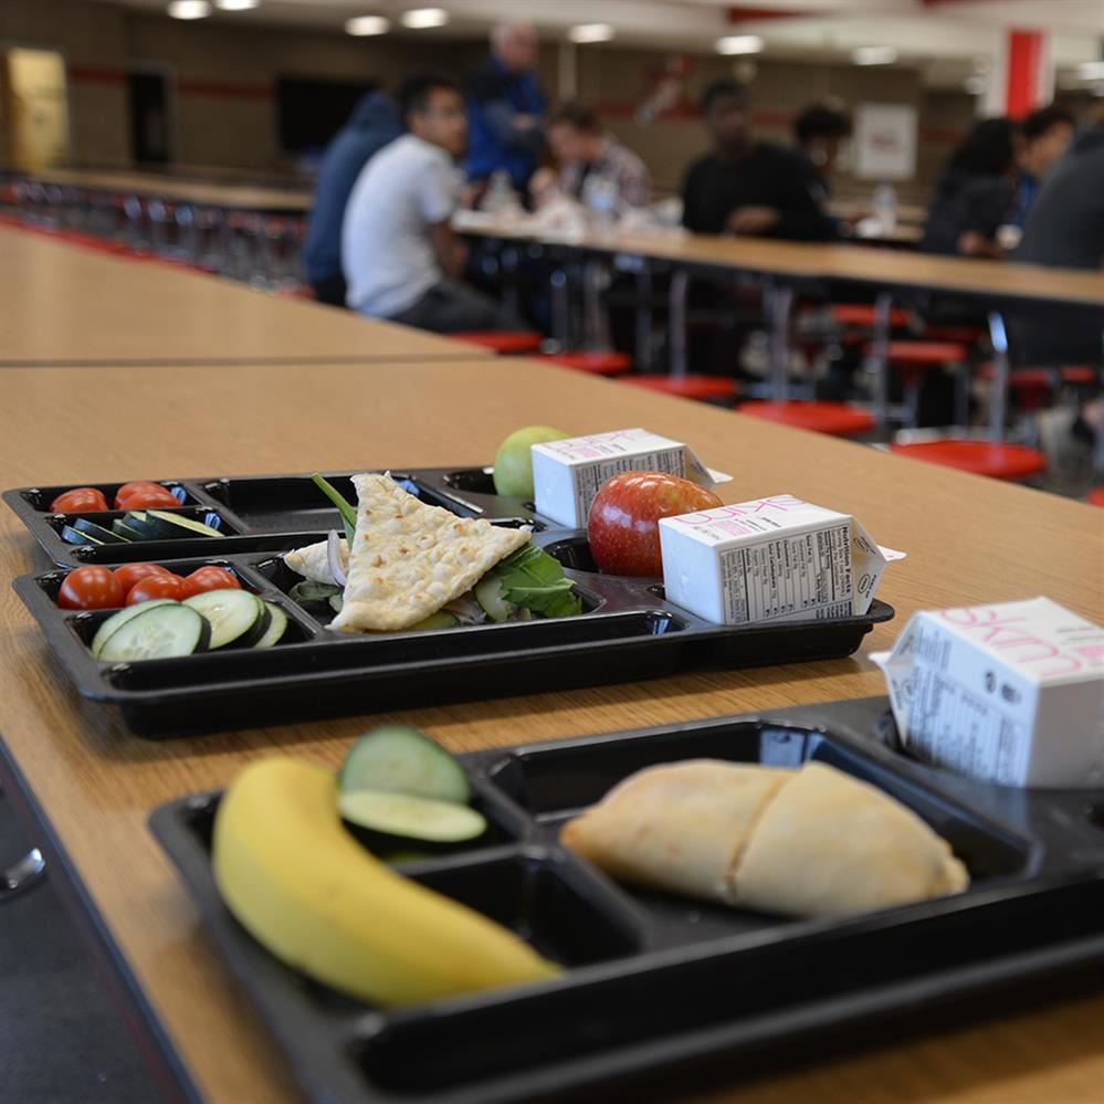
[[[428,506],[388,475],[356,475],[357,530],[345,604],[332,622],[344,632],[401,632],[471,590],[528,528],[456,517]]]

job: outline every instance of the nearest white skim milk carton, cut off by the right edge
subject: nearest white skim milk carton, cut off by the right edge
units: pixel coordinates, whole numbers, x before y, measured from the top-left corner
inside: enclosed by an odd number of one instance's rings
[[[871,659],[917,758],[1006,786],[1104,785],[1104,629],[1049,598],[917,613]]]

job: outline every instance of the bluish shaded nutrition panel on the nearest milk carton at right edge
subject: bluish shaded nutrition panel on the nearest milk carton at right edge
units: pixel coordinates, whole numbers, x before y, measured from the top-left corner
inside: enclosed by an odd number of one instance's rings
[[[1019,781],[1030,737],[1027,725],[925,663],[913,667],[911,693],[910,749],[976,778]]]

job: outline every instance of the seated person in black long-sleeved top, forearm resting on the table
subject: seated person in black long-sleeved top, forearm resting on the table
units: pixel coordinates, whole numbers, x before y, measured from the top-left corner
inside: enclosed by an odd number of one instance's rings
[[[797,150],[755,139],[748,96],[735,81],[716,81],[702,96],[713,153],[695,161],[683,183],[683,225],[700,234],[763,234],[829,241],[822,185]]]

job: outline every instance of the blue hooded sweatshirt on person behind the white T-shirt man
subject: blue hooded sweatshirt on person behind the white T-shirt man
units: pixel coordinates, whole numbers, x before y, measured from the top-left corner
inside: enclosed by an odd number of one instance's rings
[[[312,284],[341,274],[341,222],[353,186],[368,159],[402,130],[395,101],[386,92],[369,92],[326,147],[303,251]]]

